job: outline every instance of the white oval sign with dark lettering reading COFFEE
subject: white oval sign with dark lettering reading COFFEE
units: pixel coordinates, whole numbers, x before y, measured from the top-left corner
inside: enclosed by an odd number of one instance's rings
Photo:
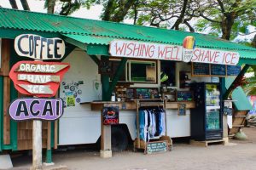
[[[15,51],[32,59],[61,59],[65,54],[65,42],[57,37],[21,34],[15,38]]]

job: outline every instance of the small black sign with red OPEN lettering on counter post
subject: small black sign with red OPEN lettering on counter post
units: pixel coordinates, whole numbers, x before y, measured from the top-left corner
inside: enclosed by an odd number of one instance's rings
[[[103,125],[119,124],[119,107],[103,108]]]

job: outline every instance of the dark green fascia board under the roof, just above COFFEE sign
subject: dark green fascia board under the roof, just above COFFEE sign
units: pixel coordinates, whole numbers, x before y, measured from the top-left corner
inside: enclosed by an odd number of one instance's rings
[[[42,37],[61,37],[61,34],[58,33],[0,28],[0,37],[2,38],[15,39],[15,37],[20,34],[36,34]]]

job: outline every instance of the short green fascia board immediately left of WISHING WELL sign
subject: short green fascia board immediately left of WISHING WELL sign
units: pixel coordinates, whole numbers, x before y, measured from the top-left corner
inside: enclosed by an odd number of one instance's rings
[[[87,54],[89,55],[105,55],[110,56],[108,53],[108,45],[88,45],[87,46]]]

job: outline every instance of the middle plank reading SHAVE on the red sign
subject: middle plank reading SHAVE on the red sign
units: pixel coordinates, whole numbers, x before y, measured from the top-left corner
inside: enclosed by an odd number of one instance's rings
[[[32,83],[60,82],[59,76],[18,74],[18,80]]]

